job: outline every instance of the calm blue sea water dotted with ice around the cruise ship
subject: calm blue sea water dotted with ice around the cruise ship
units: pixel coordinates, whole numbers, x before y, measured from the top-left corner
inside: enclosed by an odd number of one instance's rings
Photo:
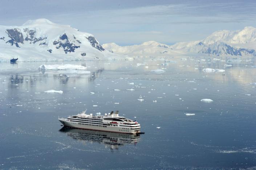
[[[256,168],[254,61],[228,68],[189,59],[162,66],[160,60],[47,62],[67,63],[91,73],[0,63],[0,169]],[[225,75],[203,72],[207,67]],[[150,72],[159,68],[166,72]],[[63,93],[44,93],[51,89]],[[145,134],[68,129],[58,122],[85,109],[119,110]]]

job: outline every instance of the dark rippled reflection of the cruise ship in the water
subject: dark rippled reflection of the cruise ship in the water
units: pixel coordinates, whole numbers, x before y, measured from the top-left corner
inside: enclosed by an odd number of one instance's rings
[[[91,131],[69,127],[62,127],[60,131],[66,133],[73,139],[82,141],[83,143],[100,143],[110,149],[118,149],[119,146],[124,146],[125,144],[134,144],[135,146],[140,138],[139,135],[135,134]]]

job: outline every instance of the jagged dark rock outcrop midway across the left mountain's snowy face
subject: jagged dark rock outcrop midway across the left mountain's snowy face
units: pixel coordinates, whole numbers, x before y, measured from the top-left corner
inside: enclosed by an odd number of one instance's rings
[[[66,41],[64,42],[63,40],[66,40]],[[80,46],[76,46],[75,44],[71,43],[66,34],[61,35],[60,39],[58,41],[53,42],[53,45],[58,45],[58,46],[56,46],[57,49],[62,47],[66,54],[68,52],[75,52],[76,48],[80,48]]]

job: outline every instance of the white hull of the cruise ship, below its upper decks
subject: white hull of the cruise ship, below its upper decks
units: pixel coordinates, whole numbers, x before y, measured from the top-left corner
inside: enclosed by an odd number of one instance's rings
[[[105,132],[115,132],[115,133],[128,133],[128,134],[136,134],[140,133],[140,129],[131,129],[117,126],[95,126],[95,125],[88,125],[88,124],[81,124],[77,122],[69,122],[67,119],[58,119],[64,126],[78,128],[78,129],[89,129],[95,131],[105,131]]]

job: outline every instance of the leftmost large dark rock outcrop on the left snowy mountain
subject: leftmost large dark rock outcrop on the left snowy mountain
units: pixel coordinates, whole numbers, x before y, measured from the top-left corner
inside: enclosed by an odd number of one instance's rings
[[[18,43],[23,44],[24,39],[23,39],[23,35],[19,28],[7,29],[6,33],[8,34],[8,37],[11,38],[6,43],[10,43],[12,46],[13,46],[13,44],[15,44],[16,47],[19,47]]]

